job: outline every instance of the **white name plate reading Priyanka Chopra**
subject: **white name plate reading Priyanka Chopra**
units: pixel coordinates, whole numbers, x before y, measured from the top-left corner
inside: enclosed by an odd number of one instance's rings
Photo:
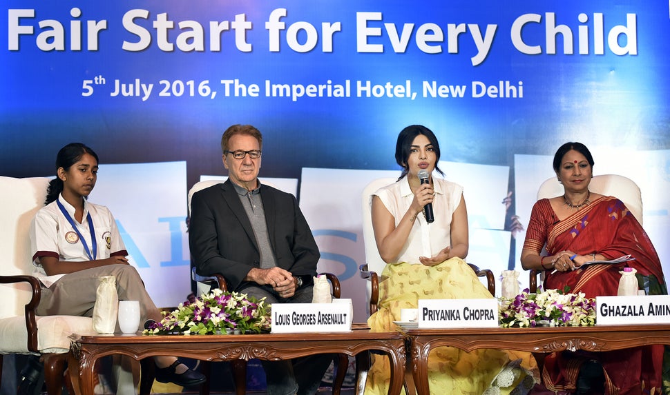
[[[498,301],[419,299],[419,329],[498,327]]]

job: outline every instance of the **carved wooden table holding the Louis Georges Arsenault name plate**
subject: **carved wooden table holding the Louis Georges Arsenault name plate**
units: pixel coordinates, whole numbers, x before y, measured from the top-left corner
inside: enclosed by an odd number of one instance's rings
[[[389,356],[389,395],[400,394],[405,376],[405,338],[399,332],[370,332],[356,325],[351,332],[299,334],[230,334],[159,336],[142,334],[73,335],[68,356],[70,377],[77,394],[94,395],[93,367],[103,356],[122,354],[137,361],[157,355],[202,361],[279,361],[314,354],[347,354],[376,350]]]

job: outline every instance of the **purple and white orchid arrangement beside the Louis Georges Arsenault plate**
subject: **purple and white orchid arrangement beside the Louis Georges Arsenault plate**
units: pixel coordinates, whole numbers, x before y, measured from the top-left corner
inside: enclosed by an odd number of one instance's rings
[[[177,310],[164,312],[142,334],[227,334],[260,333],[270,330],[270,309],[265,298],[215,289],[195,301],[180,303]]]

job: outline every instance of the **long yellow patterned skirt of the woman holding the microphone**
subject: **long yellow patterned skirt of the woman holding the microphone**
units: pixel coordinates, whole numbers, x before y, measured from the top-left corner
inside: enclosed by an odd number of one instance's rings
[[[491,297],[475,272],[459,258],[435,266],[386,265],[379,282],[379,310],[367,323],[375,332],[395,331],[398,328],[393,321],[400,321],[400,310],[417,308],[419,299]],[[435,395],[523,395],[539,382],[539,374],[535,358],[527,352],[463,352],[456,347],[437,347],[428,356],[428,381],[430,394]],[[387,394],[389,382],[388,358],[373,355],[365,394]]]

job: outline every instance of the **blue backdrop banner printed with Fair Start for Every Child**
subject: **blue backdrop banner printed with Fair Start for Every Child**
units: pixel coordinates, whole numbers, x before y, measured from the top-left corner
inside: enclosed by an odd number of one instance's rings
[[[184,162],[185,190],[224,174],[220,135],[251,123],[265,137],[261,175],[298,179],[299,193],[305,169],[398,169],[398,132],[422,123],[444,161],[509,174],[510,214],[515,204],[529,211],[537,181],[551,176],[551,161],[526,159],[582,141],[596,173],[615,163],[636,181],[663,182],[643,196],[655,234],[667,230],[667,1],[4,4],[2,175],[52,174],[57,149],[83,141],[102,163]],[[515,168],[519,159],[539,163],[539,175]],[[519,185],[530,191],[523,210]],[[325,212],[306,216],[314,224]],[[359,226],[316,228],[355,241]],[[505,254],[513,267],[513,249]]]

